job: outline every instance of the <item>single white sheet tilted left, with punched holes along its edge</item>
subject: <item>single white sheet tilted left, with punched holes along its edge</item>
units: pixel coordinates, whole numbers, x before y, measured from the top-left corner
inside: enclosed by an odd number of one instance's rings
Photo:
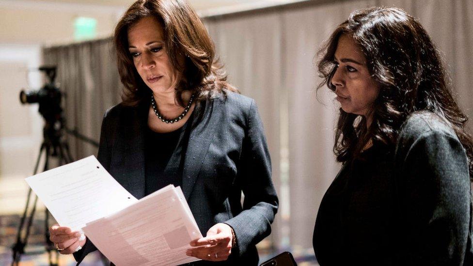
[[[89,156],[26,178],[61,226],[73,231],[138,200]]]

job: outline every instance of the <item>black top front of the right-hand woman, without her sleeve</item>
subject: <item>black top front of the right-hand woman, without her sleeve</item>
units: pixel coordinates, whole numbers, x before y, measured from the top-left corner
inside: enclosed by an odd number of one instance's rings
[[[373,146],[347,162],[320,204],[314,230],[317,261],[349,265],[384,259],[393,250],[392,150]],[[388,264],[389,265],[389,264]]]

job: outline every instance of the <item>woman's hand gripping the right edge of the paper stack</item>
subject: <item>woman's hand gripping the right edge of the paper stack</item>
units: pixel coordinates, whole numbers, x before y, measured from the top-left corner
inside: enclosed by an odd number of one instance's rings
[[[232,228],[225,223],[217,223],[207,231],[207,236],[190,241],[186,255],[207,261],[224,261],[232,252]]]

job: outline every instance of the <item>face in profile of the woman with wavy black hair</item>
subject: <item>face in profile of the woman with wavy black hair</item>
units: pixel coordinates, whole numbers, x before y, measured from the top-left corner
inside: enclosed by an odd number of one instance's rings
[[[337,69],[331,79],[342,110],[366,116],[379,94],[379,85],[366,66],[360,47],[349,35],[338,39],[334,61]]]

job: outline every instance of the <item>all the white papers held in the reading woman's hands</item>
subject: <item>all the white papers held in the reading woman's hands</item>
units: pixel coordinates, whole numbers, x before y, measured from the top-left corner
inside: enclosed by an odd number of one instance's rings
[[[134,198],[95,156],[46,171],[26,182],[59,225],[81,229],[115,265],[178,265],[189,242],[202,237],[181,188],[169,185]]]

